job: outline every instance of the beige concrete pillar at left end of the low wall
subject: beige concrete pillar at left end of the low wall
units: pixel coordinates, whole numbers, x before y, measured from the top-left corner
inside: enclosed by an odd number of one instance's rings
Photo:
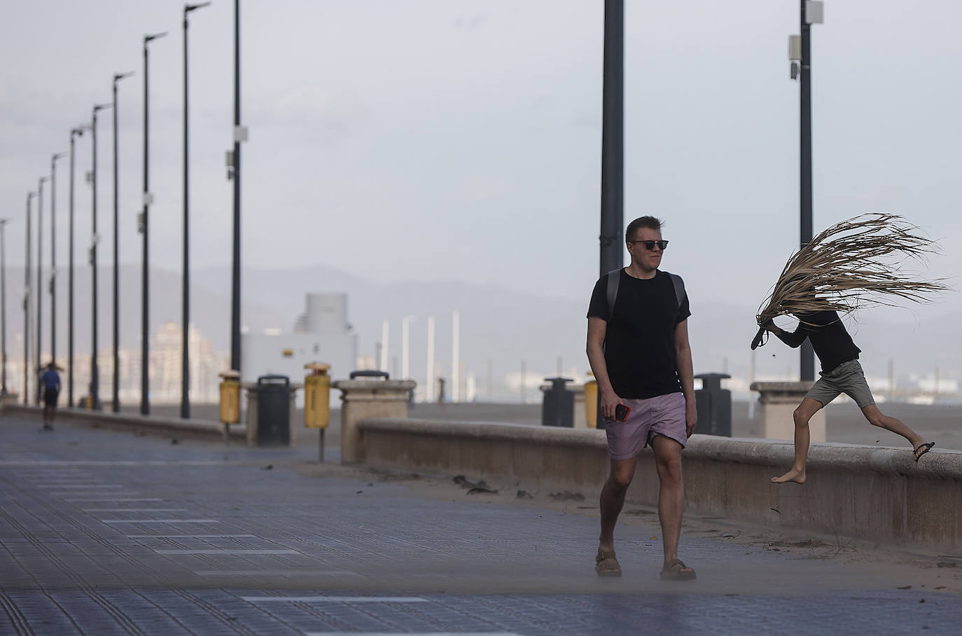
[[[358,420],[367,418],[407,418],[408,393],[418,383],[414,380],[338,380],[334,388],[341,391],[341,462],[364,461],[360,445]]]

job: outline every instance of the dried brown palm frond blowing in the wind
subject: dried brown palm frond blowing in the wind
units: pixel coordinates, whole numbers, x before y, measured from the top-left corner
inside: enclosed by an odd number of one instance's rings
[[[868,214],[836,223],[788,260],[758,308],[758,324],[789,314],[930,300],[951,289],[946,279],[919,280],[902,264],[936,253],[936,242],[901,216]],[[762,343],[764,332],[764,327],[758,330],[751,348]]]

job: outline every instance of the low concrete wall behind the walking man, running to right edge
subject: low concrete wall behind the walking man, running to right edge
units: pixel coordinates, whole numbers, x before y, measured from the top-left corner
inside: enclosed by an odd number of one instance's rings
[[[594,498],[607,478],[604,431],[519,424],[361,420],[371,467],[464,473],[581,490]],[[791,443],[696,435],[683,453],[688,509],[902,547],[962,549],[962,452],[813,444],[807,481],[775,485],[793,460]],[[632,502],[654,506],[650,451],[639,458]]]

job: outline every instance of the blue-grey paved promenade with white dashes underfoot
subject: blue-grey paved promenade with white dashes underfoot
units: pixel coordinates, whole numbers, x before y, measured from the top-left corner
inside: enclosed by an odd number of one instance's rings
[[[470,475],[468,475],[470,477]],[[0,634],[956,634],[962,556],[690,519],[692,582],[627,507],[594,573],[595,493],[318,466],[0,418]]]

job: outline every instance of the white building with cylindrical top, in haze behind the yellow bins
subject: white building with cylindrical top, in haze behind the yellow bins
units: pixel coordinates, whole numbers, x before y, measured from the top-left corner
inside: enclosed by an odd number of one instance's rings
[[[261,375],[287,375],[291,383],[303,383],[304,365],[321,362],[331,366],[332,380],[346,379],[357,364],[358,339],[347,323],[347,294],[309,293],[307,311],[294,322],[291,332],[266,329],[241,335],[241,382],[257,382]],[[340,394],[331,392],[331,403]],[[298,406],[303,392],[297,393]]]

